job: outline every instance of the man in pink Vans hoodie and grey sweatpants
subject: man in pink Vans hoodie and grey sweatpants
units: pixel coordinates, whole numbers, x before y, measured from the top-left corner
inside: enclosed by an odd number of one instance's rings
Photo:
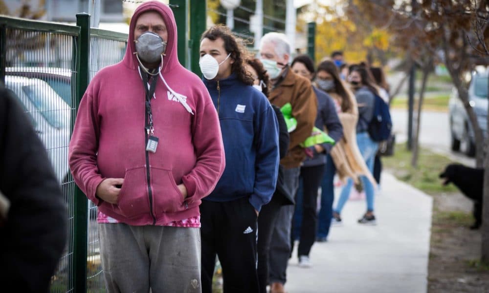
[[[199,205],[224,152],[207,89],[178,62],[167,5],[139,6],[124,59],[90,82],[69,166],[98,206],[108,292],[201,291]]]

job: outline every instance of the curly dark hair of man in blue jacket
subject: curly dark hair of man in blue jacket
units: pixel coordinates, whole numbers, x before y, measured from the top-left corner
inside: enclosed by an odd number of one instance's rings
[[[224,49],[226,50],[226,53],[231,53],[230,58],[234,60],[234,63],[231,65],[231,72],[236,74],[238,80],[242,81],[244,84],[252,85],[253,77],[251,77],[251,74],[244,66],[244,60],[249,53],[243,45],[243,40],[235,37],[227,26],[217,24],[210,27],[202,34],[200,42],[202,42],[203,39],[216,41],[218,38],[221,38],[222,41],[224,41]]]

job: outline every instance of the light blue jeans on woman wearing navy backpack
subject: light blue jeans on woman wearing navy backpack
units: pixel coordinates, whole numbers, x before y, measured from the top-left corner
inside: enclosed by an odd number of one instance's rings
[[[374,142],[367,132],[361,132],[356,134],[356,143],[358,149],[362,154],[365,163],[371,173],[374,172],[374,160],[375,154],[377,153],[378,143]],[[367,211],[374,211],[374,186],[365,176],[360,176],[360,180],[363,184],[363,189],[365,190],[365,197],[367,200]],[[335,212],[341,213],[343,206],[350,197],[350,191],[353,186],[353,180],[350,178],[345,187],[341,190],[338,203],[336,204]]]

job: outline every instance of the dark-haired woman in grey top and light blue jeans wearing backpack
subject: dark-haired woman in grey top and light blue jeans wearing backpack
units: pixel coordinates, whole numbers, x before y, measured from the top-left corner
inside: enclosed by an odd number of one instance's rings
[[[378,95],[377,86],[370,78],[367,68],[364,66],[352,66],[348,79],[355,91],[355,98],[358,105],[356,142],[370,173],[372,173],[374,170],[374,158],[377,153],[378,143],[370,138],[368,126],[374,114],[375,95]],[[376,185],[376,183],[375,180],[369,180],[365,176],[361,176],[360,179],[362,180],[363,188],[365,190],[367,212],[358,220],[358,223],[375,225],[374,185]],[[333,216],[335,218],[340,218],[341,210],[350,196],[352,185],[353,180],[349,179],[347,185],[341,190],[340,198],[333,211]]]

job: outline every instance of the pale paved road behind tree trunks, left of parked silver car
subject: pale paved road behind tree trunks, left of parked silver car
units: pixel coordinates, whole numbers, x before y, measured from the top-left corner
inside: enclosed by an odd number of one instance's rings
[[[393,109],[391,117],[397,142],[405,142],[407,140],[407,110]],[[423,111],[421,116],[421,145],[449,157],[452,161],[475,167],[475,159],[450,150],[449,128],[448,113]]]

